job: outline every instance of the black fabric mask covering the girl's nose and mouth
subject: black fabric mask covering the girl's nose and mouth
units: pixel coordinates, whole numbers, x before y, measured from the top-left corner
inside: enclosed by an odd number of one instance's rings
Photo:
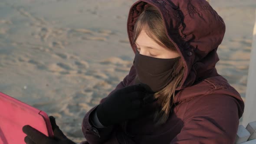
[[[158,92],[167,86],[175,77],[173,72],[181,57],[159,59],[141,55],[136,50],[133,65],[137,71],[135,84],[141,83],[151,92]]]

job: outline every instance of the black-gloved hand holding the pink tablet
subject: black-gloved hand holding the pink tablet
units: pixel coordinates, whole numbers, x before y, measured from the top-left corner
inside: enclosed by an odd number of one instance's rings
[[[49,119],[52,124],[54,137],[47,137],[45,134],[37,131],[35,128],[32,128],[30,125],[25,125],[23,126],[22,131],[27,134],[24,138],[26,144],[75,144],[75,142],[69,140],[62,133],[53,116],[49,116]]]

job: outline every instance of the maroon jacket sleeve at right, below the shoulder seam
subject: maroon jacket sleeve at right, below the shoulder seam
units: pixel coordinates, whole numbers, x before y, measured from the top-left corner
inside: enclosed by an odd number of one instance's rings
[[[243,108],[229,95],[197,98],[187,105],[184,127],[170,144],[234,144],[239,111]]]

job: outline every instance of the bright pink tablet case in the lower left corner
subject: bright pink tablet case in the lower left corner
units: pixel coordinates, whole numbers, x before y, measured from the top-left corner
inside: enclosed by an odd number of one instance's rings
[[[0,144],[26,144],[22,127],[27,124],[53,137],[49,117],[44,111],[0,92]]]

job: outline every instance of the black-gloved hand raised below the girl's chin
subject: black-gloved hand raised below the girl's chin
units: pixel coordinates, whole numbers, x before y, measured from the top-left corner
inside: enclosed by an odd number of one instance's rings
[[[155,100],[141,84],[131,85],[109,95],[98,105],[96,114],[101,124],[107,127],[152,113],[151,103]]]

